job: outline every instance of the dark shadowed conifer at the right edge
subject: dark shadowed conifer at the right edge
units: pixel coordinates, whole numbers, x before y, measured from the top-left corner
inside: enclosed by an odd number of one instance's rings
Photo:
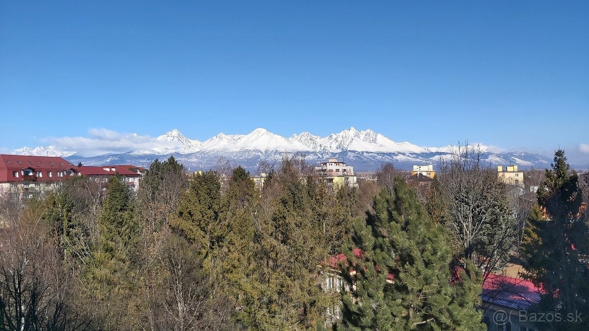
[[[522,256],[524,275],[545,290],[541,311],[557,310],[562,316],[583,314],[585,322],[544,325],[556,330],[589,327],[589,228],[580,213],[582,191],[564,151],[554,154],[546,181],[538,188],[538,207],[525,228]]]

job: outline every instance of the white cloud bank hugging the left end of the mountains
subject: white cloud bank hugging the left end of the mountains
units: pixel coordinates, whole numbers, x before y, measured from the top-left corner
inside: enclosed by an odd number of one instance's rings
[[[91,128],[88,133],[90,137],[48,137],[42,141],[86,157],[128,151],[166,151],[178,147],[177,141],[161,141],[148,135],[118,133],[104,128]]]

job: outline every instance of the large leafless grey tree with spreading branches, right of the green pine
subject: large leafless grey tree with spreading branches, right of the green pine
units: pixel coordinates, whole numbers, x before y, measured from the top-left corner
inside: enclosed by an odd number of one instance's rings
[[[459,259],[491,272],[504,269],[517,239],[505,185],[484,160],[479,147],[459,144],[438,164],[441,195]],[[463,261],[464,262],[464,261]]]

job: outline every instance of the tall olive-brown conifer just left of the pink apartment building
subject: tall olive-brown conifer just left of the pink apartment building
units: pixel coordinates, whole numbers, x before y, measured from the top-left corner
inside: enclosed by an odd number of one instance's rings
[[[240,319],[250,330],[309,330],[322,325],[317,262],[325,259],[322,222],[307,181],[286,158],[254,210],[253,274],[244,282]]]

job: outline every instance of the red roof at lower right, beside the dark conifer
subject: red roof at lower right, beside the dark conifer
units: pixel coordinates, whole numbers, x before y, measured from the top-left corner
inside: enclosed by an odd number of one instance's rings
[[[543,291],[530,280],[489,274],[482,284],[482,300],[512,309],[527,309],[540,302]]]

